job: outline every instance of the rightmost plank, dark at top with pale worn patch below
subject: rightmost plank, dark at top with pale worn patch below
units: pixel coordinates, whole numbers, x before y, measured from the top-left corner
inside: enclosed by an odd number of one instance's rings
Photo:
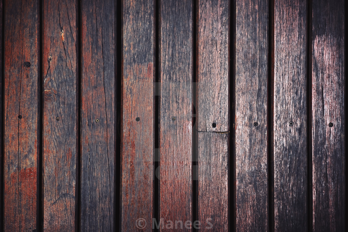
[[[345,231],[344,9],[343,0],[313,1],[313,231]]]

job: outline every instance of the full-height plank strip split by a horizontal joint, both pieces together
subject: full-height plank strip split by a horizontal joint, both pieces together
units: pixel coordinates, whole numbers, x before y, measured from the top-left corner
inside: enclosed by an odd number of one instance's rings
[[[229,1],[198,1],[197,158],[201,231],[228,231]],[[214,125],[213,125],[214,123]],[[208,131],[208,132],[207,132]]]

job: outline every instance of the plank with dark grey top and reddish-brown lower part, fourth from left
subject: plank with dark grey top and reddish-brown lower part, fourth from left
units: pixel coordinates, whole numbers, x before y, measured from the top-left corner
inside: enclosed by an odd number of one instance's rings
[[[122,231],[152,230],[153,16],[153,1],[123,2]]]

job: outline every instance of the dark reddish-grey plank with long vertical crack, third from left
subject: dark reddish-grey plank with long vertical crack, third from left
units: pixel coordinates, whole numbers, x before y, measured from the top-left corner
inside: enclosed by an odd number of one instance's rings
[[[84,0],[81,231],[114,229],[114,1]]]

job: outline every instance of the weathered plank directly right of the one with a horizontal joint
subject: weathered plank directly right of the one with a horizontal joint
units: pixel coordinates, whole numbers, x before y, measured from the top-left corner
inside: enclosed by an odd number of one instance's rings
[[[236,1],[236,228],[268,231],[268,1]],[[254,125],[254,123],[257,123]]]

